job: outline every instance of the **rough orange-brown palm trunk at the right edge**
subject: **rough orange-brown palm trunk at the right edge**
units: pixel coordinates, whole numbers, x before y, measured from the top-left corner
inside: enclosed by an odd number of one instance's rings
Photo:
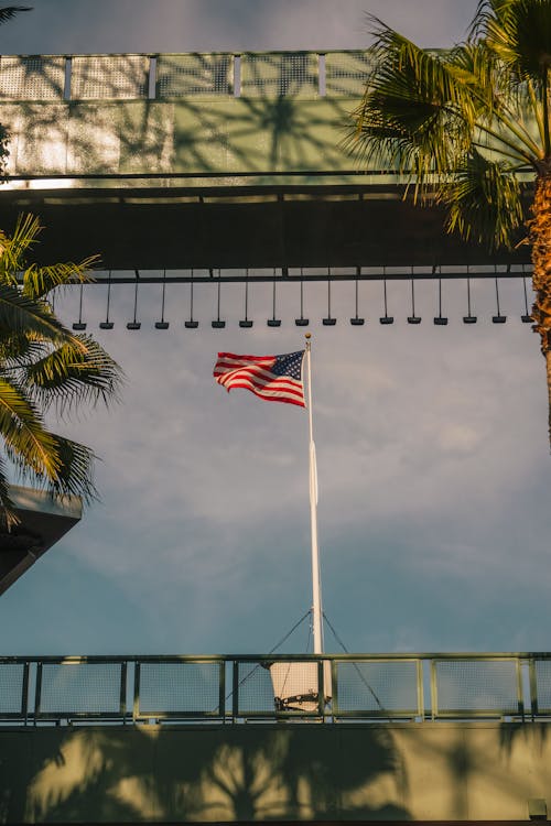
[[[536,300],[532,307],[534,325],[539,333],[541,352],[545,358],[548,381],[548,427],[551,450],[551,162],[536,180],[536,194],[531,206],[532,218],[528,221],[532,244]]]

